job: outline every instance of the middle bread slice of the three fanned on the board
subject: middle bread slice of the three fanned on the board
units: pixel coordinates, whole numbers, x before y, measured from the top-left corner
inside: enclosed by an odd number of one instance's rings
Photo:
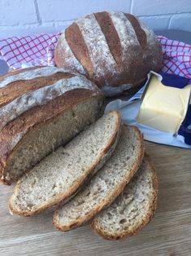
[[[113,156],[71,201],[54,213],[54,226],[61,231],[79,227],[110,205],[141,164],[143,139],[134,126],[123,126]]]

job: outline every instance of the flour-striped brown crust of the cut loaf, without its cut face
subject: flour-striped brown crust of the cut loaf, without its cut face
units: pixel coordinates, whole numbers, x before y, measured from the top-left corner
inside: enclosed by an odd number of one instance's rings
[[[34,78],[30,79],[33,71],[39,74],[33,75]],[[22,77],[24,73],[26,75]],[[57,83],[63,84],[50,90],[50,87]],[[4,175],[8,163],[34,129],[43,129],[64,112],[92,97],[100,98],[103,102],[102,93],[92,82],[85,77],[66,73],[63,68],[55,67],[25,68],[1,77],[0,96],[0,181],[5,184],[15,181],[7,180]],[[100,114],[101,112],[100,109]]]

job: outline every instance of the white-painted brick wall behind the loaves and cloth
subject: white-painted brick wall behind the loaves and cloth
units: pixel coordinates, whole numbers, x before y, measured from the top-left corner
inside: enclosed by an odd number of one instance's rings
[[[0,0],[0,38],[57,32],[81,15],[104,10],[130,12],[155,30],[191,31],[191,0]]]

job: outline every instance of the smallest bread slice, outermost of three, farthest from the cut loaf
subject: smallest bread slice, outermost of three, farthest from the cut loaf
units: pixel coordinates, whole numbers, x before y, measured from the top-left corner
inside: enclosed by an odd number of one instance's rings
[[[150,157],[118,198],[94,218],[93,231],[106,240],[118,240],[137,234],[154,216],[158,181]]]

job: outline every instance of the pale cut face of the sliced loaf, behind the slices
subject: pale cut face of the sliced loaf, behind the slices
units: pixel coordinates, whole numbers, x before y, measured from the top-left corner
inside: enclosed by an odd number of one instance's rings
[[[2,183],[11,185],[38,161],[96,121],[102,115],[102,104],[102,96],[89,97],[29,130],[2,167]]]

